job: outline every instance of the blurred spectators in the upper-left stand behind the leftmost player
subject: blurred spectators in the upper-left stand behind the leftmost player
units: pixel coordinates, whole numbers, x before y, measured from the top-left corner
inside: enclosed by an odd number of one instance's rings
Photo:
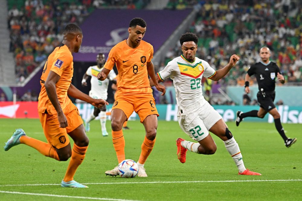
[[[93,9],[90,0],[25,0],[24,5],[13,5],[8,11],[8,28],[17,83],[22,83],[59,46],[67,24],[80,24]]]

